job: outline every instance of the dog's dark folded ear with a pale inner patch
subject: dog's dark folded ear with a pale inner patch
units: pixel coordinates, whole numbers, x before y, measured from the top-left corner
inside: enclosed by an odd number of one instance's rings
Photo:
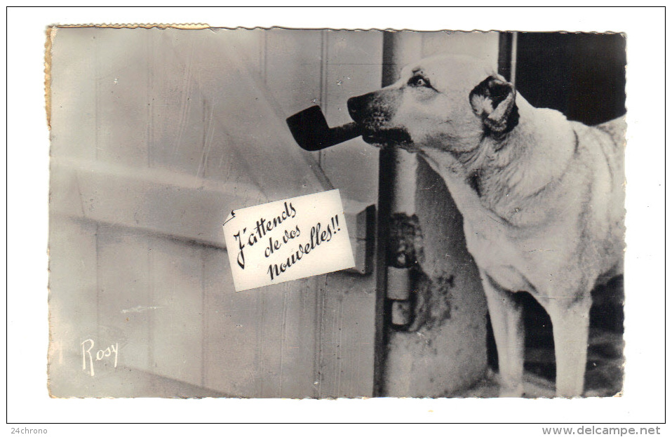
[[[473,113],[495,135],[511,132],[518,125],[516,89],[501,76],[490,76],[479,83],[469,93],[469,102]]]

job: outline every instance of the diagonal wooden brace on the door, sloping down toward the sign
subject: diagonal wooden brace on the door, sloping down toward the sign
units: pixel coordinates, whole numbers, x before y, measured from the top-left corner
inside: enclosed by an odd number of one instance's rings
[[[175,36],[174,31],[163,32]],[[213,108],[215,129],[227,135],[227,150],[241,159],[236,166],[245,168],[270,201],[330,189],[314,159],[297,146],[283,117],[269,102],[258,74],[250,73],[229,47],[231,32],[237,31],[182,33],[173,39],[173,46],[177,58],[188,59],[201,72],[194,80]],[[187,57],[191,45],[199,50]]]

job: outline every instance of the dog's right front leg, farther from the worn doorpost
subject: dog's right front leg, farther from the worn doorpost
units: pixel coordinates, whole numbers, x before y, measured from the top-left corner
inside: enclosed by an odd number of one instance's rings
[[[583,394],[591,302],[587,293],[577,300],[572,298],[572,302],[566,302],[565,298],[552,300],[546,309],[553,323],[558,397]]]

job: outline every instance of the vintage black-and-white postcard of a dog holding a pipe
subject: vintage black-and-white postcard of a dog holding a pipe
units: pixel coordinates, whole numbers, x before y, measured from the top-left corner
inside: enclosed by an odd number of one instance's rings
[[[52,396],[621,391],[624,34],[49,38]],[[354,267],[237,292],[229,211],[332,189]]]

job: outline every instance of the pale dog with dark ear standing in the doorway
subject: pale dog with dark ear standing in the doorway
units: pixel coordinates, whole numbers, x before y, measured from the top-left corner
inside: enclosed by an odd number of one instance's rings
[[[348,100],[363,139],[422,156],[464,217],[499,356],[499,396],[523,396],[515,295],[553,324],[556,396],[582,396],[591,290],[624,255],[624,118],[589,127],[532,107],[502,76],[459,58],[405,67]]]

